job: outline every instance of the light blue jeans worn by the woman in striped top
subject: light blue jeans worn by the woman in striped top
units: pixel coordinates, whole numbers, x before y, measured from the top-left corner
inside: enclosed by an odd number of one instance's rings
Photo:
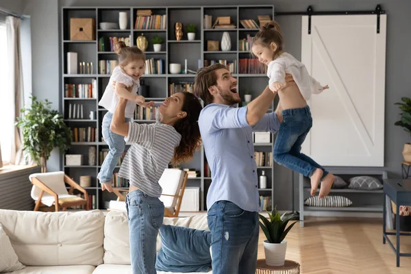
[[[125,197],[125,207],[133,274],[156,274],[155,242],[164,219],[164,203],[141,190],[134,190]]]

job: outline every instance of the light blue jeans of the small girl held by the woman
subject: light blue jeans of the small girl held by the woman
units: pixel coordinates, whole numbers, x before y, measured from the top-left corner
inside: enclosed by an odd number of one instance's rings
[[[101,123],[101,134],[105,142],[108,144],[108,155],[105,156],[103,164],[101,164],[101,169],[97,178],[100,180],[100,184],[110,183],[113,177],[114,168],[119,163],[119,158],[123,155],[125,149],[124,136],[115,134],[110,130],[110,124],[113,119],[113,114],[107,112],[103,117],[103,122]],[[129,118],[125,121],[128,123]]]

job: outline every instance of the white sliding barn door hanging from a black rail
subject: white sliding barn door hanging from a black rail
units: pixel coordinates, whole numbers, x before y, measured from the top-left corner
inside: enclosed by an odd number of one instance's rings
[[[303,153],[323,166],[384,166],[386,15],[302,18],[301,62],[323,86]]]

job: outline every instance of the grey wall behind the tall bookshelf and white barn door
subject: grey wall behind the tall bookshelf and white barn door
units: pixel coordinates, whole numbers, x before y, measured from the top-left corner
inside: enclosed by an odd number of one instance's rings
[[[39,98],[49,98],[53,106],[60,100],[60,44],[58,29],[60,27],[60,10],[62,6],[153,6],[170,5],[167,0],[123,0],[113,3],[109,0],[26,0],[24,11],[32,16],[32,51],[33,51],[33,89]],[[191,1],[192,5],[221,5],[219,0]],[[227,0],[225,5],[249,5],[247,0]],[[411,25],[411,1],[407,0],[279,0],[260,1],[253,4],[273,4],[277,12],[304,11],[312,5],[316,11],[373,10],[381,4],[387,17],[387,51],[386,51],[386,119],[385,123],[385,167],[390,177],[401,176],[402,147],[410,142],[410,136],[394,123],[399,119],[399,109],[395,102],[402,96],[410,96],[411,77],[408,76],[411,62],[411,38],[408,27]],[[173,5],[182,5],[182,0],[173,1]],[[286,51],[301,58],[301,16],[278,16],[286,40]],[[61,106],[60,106],[61,107]],[[50,170],[58,170],[57,158],[49,160]],[[53,163],[51,163],[53,162]],[[280,210],[291,209],[292,180],[298,184],[298,176],[287,169],[275,168],[275,201]],[[297,188],[295,184],[295,188]],[[297,192],[295,193],[297,195]],[[297,197],[297,196],[296,196]],[[297,204],[297,202],[296,202]]]

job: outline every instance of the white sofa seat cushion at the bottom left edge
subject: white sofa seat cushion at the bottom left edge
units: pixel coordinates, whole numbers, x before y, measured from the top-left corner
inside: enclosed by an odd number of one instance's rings
[[[13,274],[91,274],[95,266],[27,266],[25,269],[14,271]]]

